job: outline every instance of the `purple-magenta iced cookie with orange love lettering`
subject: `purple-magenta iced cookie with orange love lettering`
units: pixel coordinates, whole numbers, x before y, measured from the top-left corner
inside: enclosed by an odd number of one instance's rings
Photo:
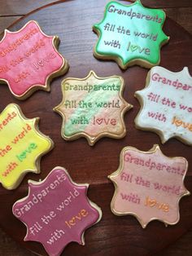
[[[28,186],[28,196],[13,205],[13,214],[28,229],[24,241],[39,241],[50,256],[59,256],[72,241],[85,245],[85,229],[102,217],[86,196],[89,184],[74,183],[67,170],[55,167],[46,179],[29,180]]]

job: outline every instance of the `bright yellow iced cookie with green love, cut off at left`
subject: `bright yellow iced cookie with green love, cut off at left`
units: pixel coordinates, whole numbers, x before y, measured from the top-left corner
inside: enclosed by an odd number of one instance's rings
[[[16,104],[0,115],[0,183],[17,188],[28,172],[40,173],[40,158],[53,147],[52,140],[37,128],[39,118],[27,119]]]

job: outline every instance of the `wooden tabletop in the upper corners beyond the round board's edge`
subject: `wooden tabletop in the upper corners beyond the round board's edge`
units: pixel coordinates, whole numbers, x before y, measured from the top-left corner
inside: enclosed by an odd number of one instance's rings
[[[37,8],[50,4],[50,2],[57,1],[3,1],[1,4],[2,8],[0,9],[0,33],[2,33],[4,29],[8,28],[13,22],[15,22],[15,20],[19,20],[23,15],[26,15],[28,12]],[[187,0],[184,3],[182,2],[182,5],[178,7],[177,5],[179,1],[153,2],[151,0],[146,0],[142,2],[143,4],[146,4],[146,6],[164,8],[164,11],[168,17],[172,18],[172,20],[175,20],[178,24],[181,24],[181,26],[183,26],[188,32],[192,33],[192,24],[190,22],[192,15],[192,2],[190,0]]]

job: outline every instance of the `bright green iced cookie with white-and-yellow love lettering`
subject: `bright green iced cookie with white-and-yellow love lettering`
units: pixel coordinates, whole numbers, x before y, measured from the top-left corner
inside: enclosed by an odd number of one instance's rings
[[[160,47],[169,39],[162,31],[164,20],[164,11],[143,7],[139,0],[130,5],[108,2],[103,20],[93,27],[98,34],[94,56],[116,60],[123,69],[158,65]]]

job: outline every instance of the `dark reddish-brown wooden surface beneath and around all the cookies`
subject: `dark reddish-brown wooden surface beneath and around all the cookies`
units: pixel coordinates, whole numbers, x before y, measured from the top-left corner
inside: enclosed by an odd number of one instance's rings
[[[29,3],[30,2],[30,3]],[[33,2],[33,3],[32,3]],[[28,11],[53,1],[0,1],[0,21],[4,25],[7,20],[22,16]],[[191,148],[176,139],[161,145],[158,135],[152,132],[136,130],[133,124],[139,104],[133,98],[135,90],[145,85],[147,69],[132,67],[122,72],[115,62],[99,61],[93,57],[93,47],[97,36],[92,32],[92,25],[103,17],[106,0],[97,3],[90,0],[67,1],[42,8],[28,15],[24,20],[15,23],[11,30],[20,29],[28,20],[37,20],[41,29],[50,35],[58,35],[61,43],[59,51],[70,64],[69,72],[65,77],[85,77],[90,69],[98,76],[107,77],[113,74],[124,77],[126,88],[124,99],[133,104],[133,110],[125,115],[127,135],[124,139],[100,139],[93,148],[90,148],[85,139],[66,142],[60,137],[61,117],[53,113],[62,99],[60,82],[63,77],[56,78],[51,83],[50,93],[38,90],[24,102],[16,100],[7,86],[1,86],[1,111],[7,104],[20,104],[26,117],[41,117],[40,130],[55,142],[55,148],[41,160],[41,174],[28,174],[20,187],[15,191],[0,188],[0,226],[20,245],[32,249],[38,254],[45,255],[41,245],[36,242],[23,242],[26,228],[11,214],[13,203],[26,196],[28,179],[44,179],[55,166],[64,166],[69,170],[76,183],[90,183],[89,198],[101,206],[103,219],[94,227],[85,232],[85,246],[70,244],[63,255],[191,255],[192,250],[192,196],[186,196],[180,203],[180,222],[173,227],[164,227],[163,223],[152,222],[142,229],[132,216],[117,217],[111,214],[110,202],[114,192],[112,183],[107,179],[119,166],[120,150],[124,146],[133,146],[141,150],[149,150],[154,143],[159,143],[164,154],[183,156],[189,161],[189,170],[185,179],[185,186],[192,192],[192,158]],[[180,20],[191,32],[191,1],[142,1],[150,7],[164,8],[174,20]],[[94,7],[94,8],[92,8]],[[4,16],[3,16],[4,15]],[[6,15],[6,16],[5,16]],[[16,16],[15,16],[16,15]],[[184,19],[185,17],[185,19]],[[1,29],[4,29],[1,27]],[[190,68],[192,39],[180,25],[167,19],[164,32],[170,36],[170,42],[161,51],[161,65],[172,71],[180,71],[183,66]],[[41,104],[40,104],[41,103]],[[4,232],[0,236],[0,255],[33,255],[21,249],[19,244],[11,241]]]

